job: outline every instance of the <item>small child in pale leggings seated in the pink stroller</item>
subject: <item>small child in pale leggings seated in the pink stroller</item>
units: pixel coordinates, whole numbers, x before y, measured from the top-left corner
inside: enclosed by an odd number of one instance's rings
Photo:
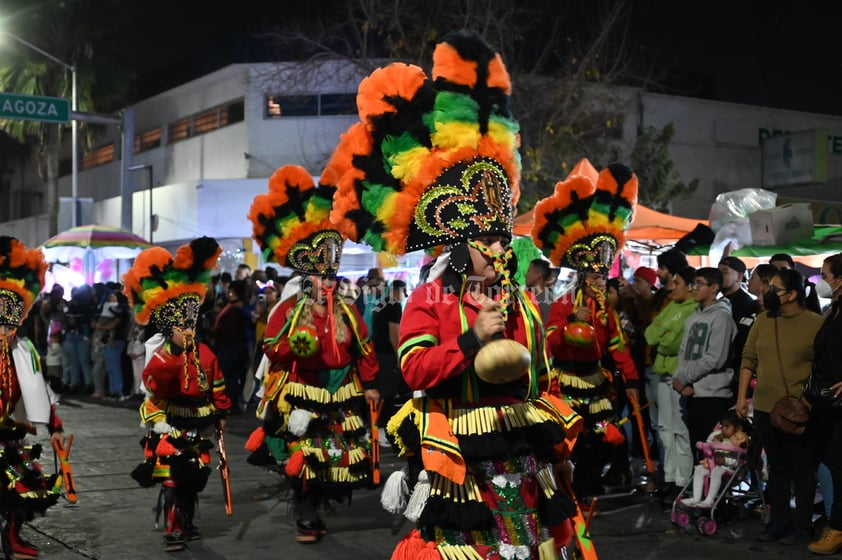
[[[704,459],[693,472],[693,496],[679,498],[681,503],[688,507],[713,507],[723,478],[733,476],[744,462],[748,443],[749,436],[743,420],[733,410],[727,411],[707,441],[696,443],[696,447],[704,453]],[[702,499],[705,479],[708,481],[708,491]]]

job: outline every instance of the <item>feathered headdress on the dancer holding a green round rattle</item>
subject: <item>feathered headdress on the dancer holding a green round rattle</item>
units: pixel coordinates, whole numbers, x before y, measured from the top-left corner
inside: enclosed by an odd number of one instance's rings
[[[254,197],[248,218],[263,258],[312,276],[335,276],[344,238],[330,221],[334,189],[316,187],[301,166],[285,165]]]

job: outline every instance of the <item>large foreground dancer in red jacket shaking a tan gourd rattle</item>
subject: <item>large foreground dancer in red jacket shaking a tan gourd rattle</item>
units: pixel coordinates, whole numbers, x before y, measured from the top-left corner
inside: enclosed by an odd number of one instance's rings
[[[575,507],[554,466],[581,419],[557,397],[540,313],[513,281],[520,166],[510,89],[499,54],[451,33],[435,49],[432,79],[398,63],[363,80],[361,122],[321,177],[338,187],[331,217],[352,240],[395,254],[446,246],[400,325],[416,398],[387,426],[409,465],[382,501],[417,529],[395,559],[556,558],[570,537]],[[408,503],[405,483],[414,484]]]

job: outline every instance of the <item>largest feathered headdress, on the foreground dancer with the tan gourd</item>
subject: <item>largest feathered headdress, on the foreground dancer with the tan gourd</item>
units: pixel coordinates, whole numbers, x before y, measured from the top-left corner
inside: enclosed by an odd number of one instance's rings
[[[351,240],[404,254],[486,234],[511,235],[520,196],[518,124],[503,60],[470,32],[447,35],[432,78],[394,63],[360,83],[360,122],[320,184]]]

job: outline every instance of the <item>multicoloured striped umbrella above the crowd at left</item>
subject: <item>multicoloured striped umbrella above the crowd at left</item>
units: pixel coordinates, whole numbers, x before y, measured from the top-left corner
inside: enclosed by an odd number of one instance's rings
[[[124,229],[103,226],[77,226],[48,239],[41,250],[47,262],[82,260],[85,280],[91,284],[97,264],[108,259],[133,259],[153,247],[140,236]]]

